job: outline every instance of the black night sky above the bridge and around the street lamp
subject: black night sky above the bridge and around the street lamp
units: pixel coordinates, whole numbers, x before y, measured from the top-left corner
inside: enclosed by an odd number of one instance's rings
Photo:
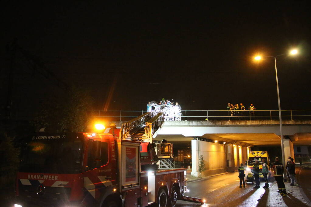
[[[6,104],[10,54],[17,44],[55,79],[91,90],[103,109],[146,110],[148,101],[178,101],[183,110],[277,109],[272,58],[277,59],[282,109],[310,109],[311,10],[308,1],[211,4],[7,1],[1,8],[1,105]],[[42,4],[44,3],[44,4]],[[56,82],[16,53],[13,106],[35,110]],[[113,84],[114,83],[114,84]],[[114,90],[113,90],[114,89]]]

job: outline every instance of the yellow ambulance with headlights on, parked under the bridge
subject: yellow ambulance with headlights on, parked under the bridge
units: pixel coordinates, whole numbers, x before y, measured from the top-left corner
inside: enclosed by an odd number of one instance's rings
[[[270,166],[270,158],[267,151],[251,151],[248,155],[247,168],[251,170],[254,166],[255,161],[259,163],[259,178],[263,178],[262,175],[262,159],[266,160],[268,166]],[[269,174],[268,174],[269,177]]]

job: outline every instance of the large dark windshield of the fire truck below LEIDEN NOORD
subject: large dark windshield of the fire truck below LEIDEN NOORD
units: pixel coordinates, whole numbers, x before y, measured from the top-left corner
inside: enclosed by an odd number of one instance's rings
[[[81,172],[81,140],[31,141],[22,150],[20,172],[74,174]]]

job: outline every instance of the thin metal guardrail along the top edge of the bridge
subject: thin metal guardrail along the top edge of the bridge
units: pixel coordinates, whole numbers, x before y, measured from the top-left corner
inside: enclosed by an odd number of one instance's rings
[[[108,121],[126,121],[131,118],[141,116],[147,111],[126,111],[126,110],[112,110],[112,111],[88,111],[93,116],[104,118]],[[182,110],[182,120],[278,120],[279,110],[255,110],[254,114],[250,110]],[[241,113],[242,112],[242,113]],[[232,114],[232,115],[231,115]],[[281,110],[282,119],[284,120],[301,120],[311,119],[311,109],[290,109]]]

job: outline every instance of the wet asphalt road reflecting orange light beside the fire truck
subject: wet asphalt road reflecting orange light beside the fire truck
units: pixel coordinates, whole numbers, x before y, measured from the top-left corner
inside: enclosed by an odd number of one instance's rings
[[[269,182],[273,182],[271,178]],[[271,184],[271,183],[270,183]],[[187,201],[178,200],[176,206],[256,206],[258,199],[265,192],[262,188],[264,182],[260,182],[260,188],[253,189],[253,184],[245,184],[245,188],[239,188],[238,172],[218,175],[204,180],[187,183],[190,192],[185,196],[203,198],[206,205],[199,205]]]

